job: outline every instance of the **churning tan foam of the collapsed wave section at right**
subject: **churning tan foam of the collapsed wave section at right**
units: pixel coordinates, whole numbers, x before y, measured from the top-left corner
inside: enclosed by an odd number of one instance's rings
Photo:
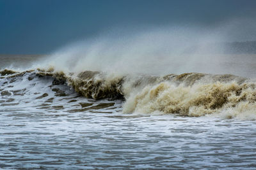
[[[175,113],[189,117],[214,114],[223,118],[256,118],[254,83],[195,83],[185,86],[162,82],[127,98],[124,112]]]

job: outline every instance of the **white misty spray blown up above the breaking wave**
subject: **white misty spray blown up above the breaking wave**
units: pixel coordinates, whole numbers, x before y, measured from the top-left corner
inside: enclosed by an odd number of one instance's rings
[[[227,53],[231,32],[196,27],[158,27],[106,32],[67,45],[52,53],[45,64],[56,71],[109,74],[236,74],[254,77],[255,55]]]

